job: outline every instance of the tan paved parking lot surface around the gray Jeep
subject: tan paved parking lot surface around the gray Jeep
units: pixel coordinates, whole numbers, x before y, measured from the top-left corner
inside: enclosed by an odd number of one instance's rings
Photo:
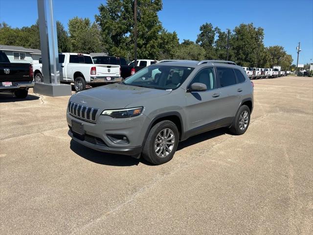
[[[245,135],[159,166],[71,141],[68,96],[1,94],[0,234],[312,234],[313,79],[254,84]]]

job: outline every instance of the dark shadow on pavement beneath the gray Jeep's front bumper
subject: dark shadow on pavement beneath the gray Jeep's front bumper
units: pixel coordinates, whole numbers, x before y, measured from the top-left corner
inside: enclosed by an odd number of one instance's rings
[[[70,149],[82,158],[96,164],[131,166],[138,165],[140,162],[139,159],[134,159],[130,156],[99,152],[91,148],[87,148],[73,140],[70,141]]]

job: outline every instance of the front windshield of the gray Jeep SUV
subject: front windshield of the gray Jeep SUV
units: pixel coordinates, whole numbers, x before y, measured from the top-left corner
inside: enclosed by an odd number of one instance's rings
[[[194,70],[191,67],[154,65],[127,78],[123,84],[161,90],[175,90]]]

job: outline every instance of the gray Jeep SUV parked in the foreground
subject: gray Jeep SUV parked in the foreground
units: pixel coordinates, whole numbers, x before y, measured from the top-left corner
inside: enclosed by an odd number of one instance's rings
[[[179,141],[229,127],[242,135],[253,109],[253,84],[230,61],[160,61],[121,83],[73,94],[69,136],[89,148],[170,161]]]

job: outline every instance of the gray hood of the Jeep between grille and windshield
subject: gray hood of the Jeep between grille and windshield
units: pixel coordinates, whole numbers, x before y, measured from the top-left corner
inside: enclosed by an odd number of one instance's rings
[[[99,109],[120,109],[140,100],[170,94],[171,90],[158,90],[124,84],[111,84],[73,94],[70,101]]]

